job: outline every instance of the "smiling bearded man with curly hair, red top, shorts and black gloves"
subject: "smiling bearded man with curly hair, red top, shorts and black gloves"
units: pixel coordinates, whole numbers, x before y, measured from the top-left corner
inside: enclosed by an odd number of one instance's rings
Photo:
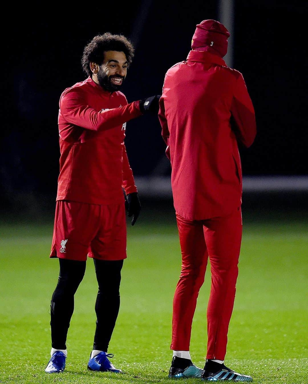
[[[60,176],[50,257],[60,274],[51,298],[51,359],[48,373],[65,369],[66,336],[74,295],[87,255],[98,281],[96,331],[88,369],[121,372],[109,361],[108,344],[119,312],[121,268],[126,258],[123,188],[132,225],[140,211],[137,188],[124,145],[126,122],[158,112],[159,96],[128,104],[119,88],[134,49],[121,35],[98,35],[84,48],[88,78],[60,98]]]

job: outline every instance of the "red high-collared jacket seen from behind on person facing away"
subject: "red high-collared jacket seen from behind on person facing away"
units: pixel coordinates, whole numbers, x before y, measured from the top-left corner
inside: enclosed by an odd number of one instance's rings
[[[203,220],[237,209],[242,197],[237,140],[249,147],[256,134],[242,74],[217,55],[190,51],[166,73],[159,119],[177,214]]]

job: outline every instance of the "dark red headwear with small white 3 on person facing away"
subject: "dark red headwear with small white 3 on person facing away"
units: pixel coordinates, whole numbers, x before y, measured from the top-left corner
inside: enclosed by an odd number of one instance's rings
[[[192,36],[192,50],[208,51],[214,55],[224,57],[228,50],[227,28],[215,20],[204,20],[197,24],[194,36]]]

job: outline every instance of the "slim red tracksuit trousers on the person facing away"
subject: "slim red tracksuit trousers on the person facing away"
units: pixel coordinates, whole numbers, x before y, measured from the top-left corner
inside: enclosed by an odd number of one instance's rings
[[[173,301],[171,349],[189,351],[192,318],[209,258],[212,285],[207,307],[206,358],[224,360],[242,240],[241,210],[202,221],[176,217],[182,270]]]

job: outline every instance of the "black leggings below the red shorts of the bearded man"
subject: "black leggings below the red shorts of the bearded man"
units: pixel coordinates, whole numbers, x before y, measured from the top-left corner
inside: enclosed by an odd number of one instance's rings
[[[51,298],[51,345],[66,349],[66,336],[74,311],[74,295],[86,270],[86,262],[60,259],[58,284]],[[94,259],[98,295],[95,303],[96,331],[93,349],[107,352],[120,306],[120,281],[123,260]]]

